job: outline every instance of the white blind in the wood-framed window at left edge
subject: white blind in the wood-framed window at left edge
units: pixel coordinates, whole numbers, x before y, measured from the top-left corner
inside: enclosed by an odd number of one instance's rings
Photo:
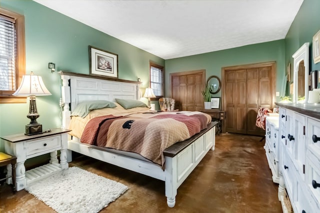
[[[0,90],[13,91],[15,85],[16,32],[14,19],[0,16]]]

